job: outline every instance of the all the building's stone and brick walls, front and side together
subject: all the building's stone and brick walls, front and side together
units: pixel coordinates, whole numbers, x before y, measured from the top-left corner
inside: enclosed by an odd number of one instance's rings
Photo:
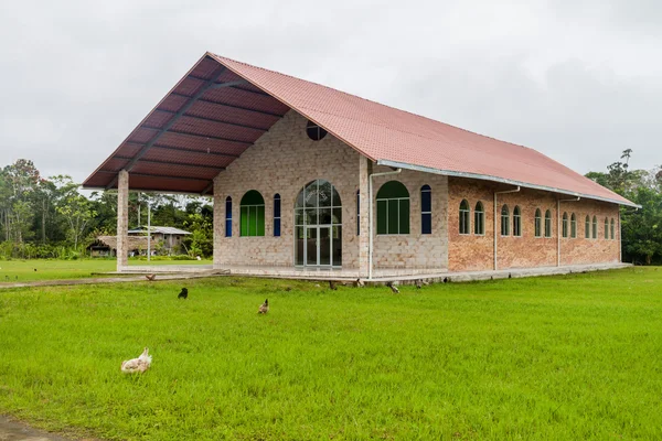
[[[328,135],[312,141],[306,135],[306,118],[289,111],[253,147],[236,159],[214,181],[214,265],[292,267],[295,258],[293,206],[301,189],[310,181],[331,182],[342,200],[342,266],[367,271],[369,201],[367,176],[392,171],[373,165],[342,141]],[[408,235],[374,235],[375,269],[430,271],[474,271],[493,269],[493,194],[512,186],[461,178],[447,178],[403,170],[401,174],[374,179],[374,194],[392,180],[402,182],[409,192],[410,230]],[[431,187],[433,233],[421,234],[420,187]],[[241,237],[239,202],[249,190],[265,198],[265,236]],[[356,235],[356,191],[361,191],[361,236]],[[281,197],[281,235],[274,237],[274,195]],[[225,198],[233,200],[233,237],[225,237]],[[471,207],[471,234],[460,235],[459,205],[466,198]],[[484,235],[473,233],[473,211],[481,201],[485,213]],[[499,269],[555,266],[558,258],[556,195],[522,189],[520,193],[499,195],[498,214],[508,204],[511,235],[498,236]],[[522,213],[522,237],[512,235],[515,205]],[[551,238],[534,237],[534,213],[552,212]],[[373,201],[376,229],[376,202]],[[595,201],[563,202],[562,213],[577,216],[577,238],[562,238],[560,263],[598,263],[619,260],[618,207]],[[584,238],[584,219],[598,217],[598,238]],[[616,239],[604,238],[605,217],[615,218]],[[500,226],[500,216],[496,226]],[[543,219],[544,229],[544,219]],[[375,232],[376,233],[376,232]]]

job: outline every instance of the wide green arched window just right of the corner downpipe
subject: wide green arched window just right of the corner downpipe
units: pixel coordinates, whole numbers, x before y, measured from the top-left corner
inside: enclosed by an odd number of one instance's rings
[[[409,234],[409,192],[399,181],[388,181],[377,192],[377,234]]]

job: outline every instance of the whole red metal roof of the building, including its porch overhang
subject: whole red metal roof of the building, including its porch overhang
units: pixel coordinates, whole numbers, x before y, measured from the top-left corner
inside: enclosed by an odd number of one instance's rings
[[[233,85],[242,79],[246,83]],[[140,155],[131,170],[139,178],[136,181],[131,178],[132,189],[209,191],[209,181],[218,170],[292,108],[378,164],[505,182],[634,206],[533,149],[211,53],[202,57],[84,185],[114,186],[117,172],[130,164],[140,149],[210,80],[231,86],[204,92]],[[206,151],[210,153],[205,154]],[[212,152],[216,155],[210,162]],[[149,160],[166,163],[156,168]],[[179,164],[169,166],[170,162]],[[182,168],[181,163],[209,168],[194,170]],[[179,173],[179,176],[166,182],[169,173]],[[157,176],[150,180],[150,174]],[[186,178],[201,181],[194,185]],[[140,189],[141,185],[147,187]]]

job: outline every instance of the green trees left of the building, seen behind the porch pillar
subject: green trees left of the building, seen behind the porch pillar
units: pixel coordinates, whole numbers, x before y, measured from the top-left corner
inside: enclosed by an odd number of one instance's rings
[[[154,241],[158,254],[212,255],[213,209],[209,197],[169,196],[132,192],[129,225],[186,229],[181,246],[167,250]],[[32,161],[20,159],[0,168],[0,259],[78,259],[98,236],[115,236],[117,194],[81,193],[71,176],[41,176]]]

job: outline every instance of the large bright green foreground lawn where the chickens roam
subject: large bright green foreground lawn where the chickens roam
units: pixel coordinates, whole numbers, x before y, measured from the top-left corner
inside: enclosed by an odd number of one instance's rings
[[[0,291],[0,413],[113,440],[662,439],[656,268],[181,283]]]

